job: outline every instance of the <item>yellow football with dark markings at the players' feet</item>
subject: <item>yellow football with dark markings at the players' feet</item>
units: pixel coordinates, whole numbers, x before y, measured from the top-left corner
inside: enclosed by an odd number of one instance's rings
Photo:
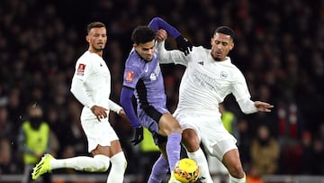
[[[200,172],[197,163],[188,158],[176,162],[174,169],[175,179],[182,183],[193,183],[199,178]]]

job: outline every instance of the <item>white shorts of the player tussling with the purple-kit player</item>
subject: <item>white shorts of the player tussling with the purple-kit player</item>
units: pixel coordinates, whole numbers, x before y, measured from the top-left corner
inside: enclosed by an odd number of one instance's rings
[[[238,149],[237,140],[225,129],[220,115],[175,114],[175,118],[183,130],[193,129],[205,151],[219,160],[225,152]]]

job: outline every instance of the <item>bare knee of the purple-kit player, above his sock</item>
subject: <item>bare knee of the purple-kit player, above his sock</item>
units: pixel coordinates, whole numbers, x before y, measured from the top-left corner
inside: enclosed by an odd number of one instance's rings
[[[182,133],[180,124],[175,120],[172,114],[163,114],[158,122],[158,133],[169,135],[170,133]]]

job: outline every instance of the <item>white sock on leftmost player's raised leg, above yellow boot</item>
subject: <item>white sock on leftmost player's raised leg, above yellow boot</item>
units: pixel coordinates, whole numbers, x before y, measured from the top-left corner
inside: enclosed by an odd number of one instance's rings
[[[109,168],[109,157],[96,155],[94,158],[87,156],[78,156],[68,159],[50,160],[51,169],[76,169],[90,172],[102,172]]]

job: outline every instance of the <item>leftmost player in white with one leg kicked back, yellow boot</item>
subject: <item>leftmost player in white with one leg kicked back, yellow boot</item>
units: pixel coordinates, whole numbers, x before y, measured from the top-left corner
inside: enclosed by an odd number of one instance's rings
[[[37,179],[52,169],[77,169],[89,172],[104,172],[112,164],[107,183],[122,183],[127,166],[119,138],[109,123],[109,111],[124,115],[120,105],[110,99],[111,74],[103,60],[107,41],[106,27],[94,22],[87,25],[88,50],[76,61],[71,92],[84,105],[81,124],[88,141],[88,151],[93,157],[79,156],[54,159],[46,154],[36,165],[32,178]]]

